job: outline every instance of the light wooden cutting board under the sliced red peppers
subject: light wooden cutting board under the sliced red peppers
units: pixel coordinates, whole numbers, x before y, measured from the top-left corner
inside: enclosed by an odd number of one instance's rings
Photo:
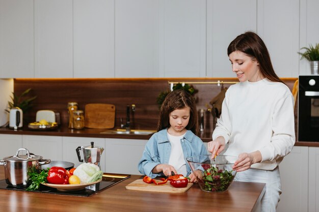
[[[166,184],[155,185],[155,184],[147,184],[143,181],[143,179],[137,179],[132,181],[132,183],[125,186],[128,190],[136,190],[136,191],[150,191],[150,192],[167,192],[167,193],[183,193],[191,188],[193,184],[189,183],[185,188],[174,188],[170,185],[169,181]]]

